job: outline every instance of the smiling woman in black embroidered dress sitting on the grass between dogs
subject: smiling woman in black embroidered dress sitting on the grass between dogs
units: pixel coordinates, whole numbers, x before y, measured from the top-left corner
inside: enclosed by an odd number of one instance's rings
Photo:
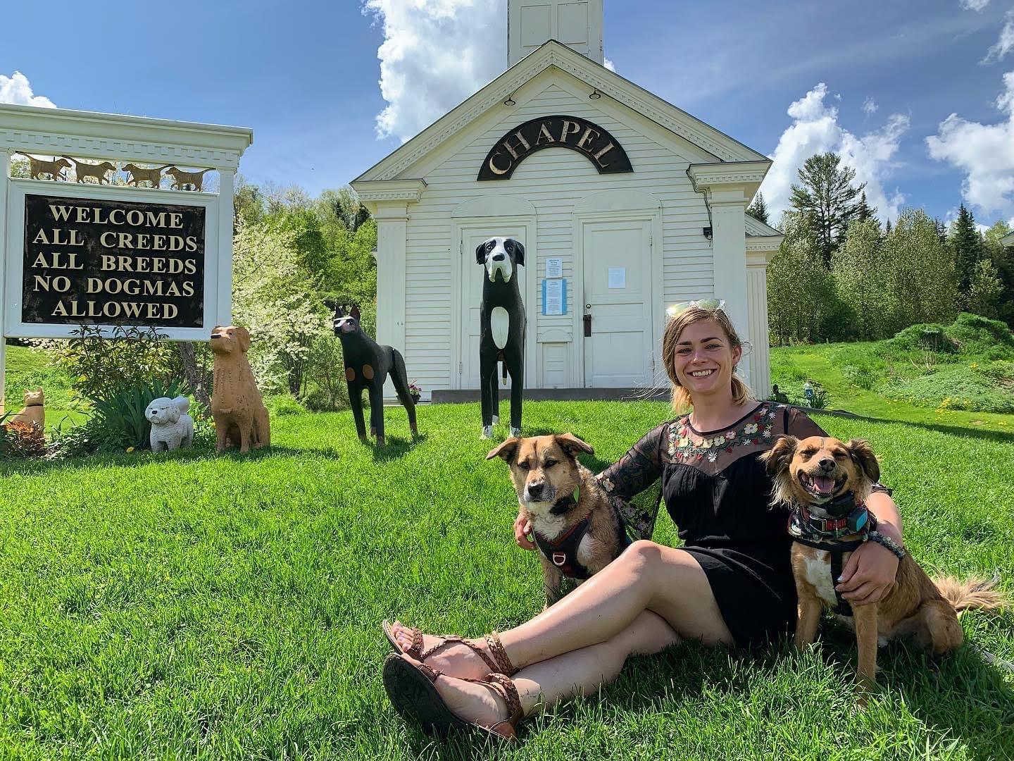
[[[399,712],[426,730],[478,727],[513,737],[522,717],[615,679],[629,655],[684,639],[749,645],[795,627],[788,513],[770,506],[772,481],[757,456],[780,433],[826,434],[796,409],[754,401],[734,374],[741,356],[721,304],[677,313],[662,360],[673,407],[693,411],[650,431],[598,476],[641,537],[651,536],[655,514],[623,500],[661,478],[684,545],[634,542],[556,605],[499,635],[443,638],[385,622],[400,652],[384,664],[384,686]],[[888,492],[881,487],[867,505],[879,531],[900,544]],[[528,532],[519,514],[515,539],[533,550]],[[893,585],[897,563],[885,547],[864,544],[837,589],[852,605],[876,603]]]

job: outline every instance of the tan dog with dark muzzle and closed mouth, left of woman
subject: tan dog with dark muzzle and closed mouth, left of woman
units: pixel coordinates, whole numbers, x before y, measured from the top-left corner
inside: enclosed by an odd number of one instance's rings
[[[509,466],[521,510],[531,522],[547,607],[611,563],[630,543],[591,471],[577,461],[594,449],[572,433],[508,438],[486,456]]]

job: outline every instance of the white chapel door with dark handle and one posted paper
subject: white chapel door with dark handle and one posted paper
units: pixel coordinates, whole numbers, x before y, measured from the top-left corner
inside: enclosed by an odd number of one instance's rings
[[[625,389],[651,384],[651,222],[584,222],[584,385]],[[586,332],[581,325],[581,335]]]

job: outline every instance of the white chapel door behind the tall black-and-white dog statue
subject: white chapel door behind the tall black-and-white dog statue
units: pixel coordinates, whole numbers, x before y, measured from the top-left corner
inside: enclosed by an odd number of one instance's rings
[[[503,225],[490,224],[482,227],[461,228],[461,348],[458,352],[460,357],[460,376],[458,378],[458,389],[479,388],[479,307],[483,303],[483,277],[486,268],[476,262],[476,249],[479,245],[489,238],[499,235],[501,237],[513,237],[525,248],[525,262],[527,262],[528,243],[526,240],[526,228],[523,225]],[[529,266],[534,266],[534,262]],[[518,267],[515,271],[518,285],[521,288],[521,300],[525,302],[525,310],[528,314],[527,330],[533,331],[534,317],[527,304],[525,283],[525,268]],[[532,361],[533,358],[525,356],[525,362]],[[499,373],[501,370],[497,369]],[[526,371],[527,374],[527,371]],[[500,388],[510,388],[510,375],[507,376],[507,386],[498,384]]]

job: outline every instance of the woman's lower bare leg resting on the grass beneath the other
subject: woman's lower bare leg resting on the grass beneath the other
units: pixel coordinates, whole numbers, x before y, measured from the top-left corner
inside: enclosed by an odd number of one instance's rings
[[[664,619],[644,611],[604,642],[532,664],[514,675],[524,715],[574,695],[594,694],[617,678],[628,656],[651,655],[679,641]],[[507,716],[506,703],[489,687],[449,677],[437,679],[435,685],[447,707],[463,719],[491,727]]]

